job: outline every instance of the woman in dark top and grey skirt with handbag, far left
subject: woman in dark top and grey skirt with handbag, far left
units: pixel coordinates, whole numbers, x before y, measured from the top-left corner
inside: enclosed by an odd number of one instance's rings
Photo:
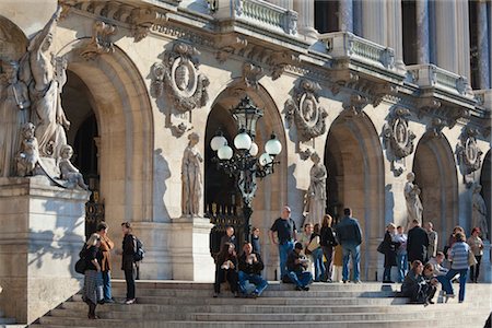
[[[101,236],[92,234],[85,243],[83,251],[85,253],[85,272],[84,272],[84,288],[82,290],[82,300],[89,305],[87,317],[90,319],[97,319],[95,309],[97,303],[103,301],[103,285],[101,284],[101,260],[103,258],[101,250]]]

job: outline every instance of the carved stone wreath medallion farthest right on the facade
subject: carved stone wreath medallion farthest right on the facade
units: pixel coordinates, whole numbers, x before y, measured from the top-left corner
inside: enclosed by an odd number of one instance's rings
[[[461,165],[465,179],[467,179],[466,175],[480,169],[482,165],[481,156],[483,152],[477,145],[478,134],[477,129],[466,127],[460,136],[459,143],[456,145],[457,160]]]

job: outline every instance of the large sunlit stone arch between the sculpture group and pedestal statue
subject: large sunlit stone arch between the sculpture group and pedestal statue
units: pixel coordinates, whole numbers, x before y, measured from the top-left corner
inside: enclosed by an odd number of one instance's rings
[[[97,119],[106,221],[152,221],[153,117],[141,74],[118,47],[92,61],[77,49],[65,57],[68,71],[86,85]]]

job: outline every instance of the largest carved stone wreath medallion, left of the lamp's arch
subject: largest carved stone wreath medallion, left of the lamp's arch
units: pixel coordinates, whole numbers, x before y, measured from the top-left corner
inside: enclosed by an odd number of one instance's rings
[[[200,52],[195,47],[176,43],[171,51],[164,52],[163,61],[154,63],[151,69],[153,94],[160,97],[166,90],[179,113],[202,107],[209,98],[207,87],[210,82],[198,73],[198,59],[194,57],[197,55]]]

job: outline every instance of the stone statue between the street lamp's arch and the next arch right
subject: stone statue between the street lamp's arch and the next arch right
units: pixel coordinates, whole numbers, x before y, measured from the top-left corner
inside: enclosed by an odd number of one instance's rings
[[[311,155],[311,160],[314,164],[309,171],[311,181],[306,192],[306,211],[308,212],[308,222],[319,223],[325,215],[328,173],[316,152]]]

